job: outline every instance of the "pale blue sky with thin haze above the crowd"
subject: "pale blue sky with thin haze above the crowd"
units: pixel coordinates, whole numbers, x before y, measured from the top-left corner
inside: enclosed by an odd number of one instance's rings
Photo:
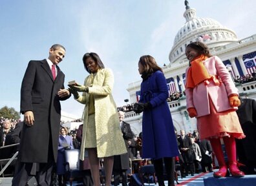
[[[189,6],[197,17],[219,21],[239,39],[256,34],[255,0],[189,0]],[[47,58],[54,43],[67,50],[59,63],[66,85],[83,83],[89,75],[83,54],[96,52],[114,72],[116,105],[125,105],[128,84],[141,79],[140,56],[155,57],[160,67],[169,63],[176,33],[186,23],[185,10],[182,0],[0,0],[0,108],[19,112],[28,61]],[[61,108],[80,118],[84,105],[70,98]]]

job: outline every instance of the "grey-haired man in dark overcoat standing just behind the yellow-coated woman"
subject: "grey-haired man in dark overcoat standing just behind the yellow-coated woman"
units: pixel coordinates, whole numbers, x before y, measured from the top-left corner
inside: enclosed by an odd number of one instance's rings
[[[114,165],[113,165],[113,174],[114,174],[114,185],[119,185],[120,183],[120,175],[122,175],[122,186],[127,186],[127,169],[129,169],[129,153],[128,153],[128,140],[133,139],[134,134],[131,130],[131,126],[129,123],[125,123],[123,121],[124,112],[119,111],[119,121],[120,127],[123,132],[123,139],[125,141],[125,146],[127,149],[127,153],[114,156]]]

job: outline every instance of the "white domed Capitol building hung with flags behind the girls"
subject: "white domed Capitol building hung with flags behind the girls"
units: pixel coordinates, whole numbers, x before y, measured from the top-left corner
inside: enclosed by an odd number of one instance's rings
[[[169,92],[184,90],[185,70],[189,61],[186,59],[185,48],[193,41],[202,41],[208,45],[211,54],[219,56],[228,68],[231,76],[246,76],[256,70],[256,34],[244,39],[238,39],[235,32],[222,26],[211,18],[197,17],[195,8],[190,8],[186,1],[186,11],[183,15],[186,23],[178,30],[173,47],[169,53],[170,63],[163,68]],[[141,81],[128,85],[131,103],[137,101]],[[240,96],[256,99],[256,82],[237,85]],[[186,132],[197,129],[196,119],[189,118],[186,111],[186,98],[168,102],[177,131]],[[135,134],[142,130],[142,114],[125,113],[125,121],[130,123]]]

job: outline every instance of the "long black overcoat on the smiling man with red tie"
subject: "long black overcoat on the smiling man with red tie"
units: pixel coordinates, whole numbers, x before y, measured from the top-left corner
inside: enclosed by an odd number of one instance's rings
[[[57,160],[58,137],[61,118],[58,91],[64,88],[65,75],[58,66],[54,81],[47,60],[30,61],[21,85],[21,113],[31,110],[34,125],[23,125],[19,158],[25,163],[47,163],[48,150]]]

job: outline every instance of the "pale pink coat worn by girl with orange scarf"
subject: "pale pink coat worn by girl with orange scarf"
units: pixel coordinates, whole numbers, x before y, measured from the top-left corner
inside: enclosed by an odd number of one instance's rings
[[[228,96],[231,94],[239,95],[239,93],[223,62],[219,57],[213,56],[206,59],[203,63],[210,75],[221,79],[220,86],[215,85],[214,81],[211,80],[208,85],[202,82],[195,88],[186,88],[187,108],[194,107],[197,110],[197,117],[206,116],[210,114],[210,97],[217,112],[237,110],[237,107],[229,105]],[[189,68],[186,69],[186,77]]]

